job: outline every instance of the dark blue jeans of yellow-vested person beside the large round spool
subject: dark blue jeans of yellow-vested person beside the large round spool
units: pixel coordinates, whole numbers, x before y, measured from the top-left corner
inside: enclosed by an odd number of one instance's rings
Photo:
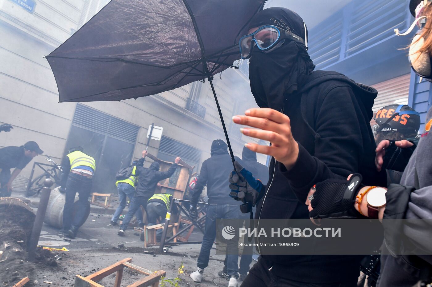
[[[91,178],[75,173],[69,174],[66,181],[63,229],[68,230],[73,227],[78,230],[78,228],[84,223],[91,190]],[[77,201],[75,212],[73,212],[76,193],[78,193],[79,200]]]

